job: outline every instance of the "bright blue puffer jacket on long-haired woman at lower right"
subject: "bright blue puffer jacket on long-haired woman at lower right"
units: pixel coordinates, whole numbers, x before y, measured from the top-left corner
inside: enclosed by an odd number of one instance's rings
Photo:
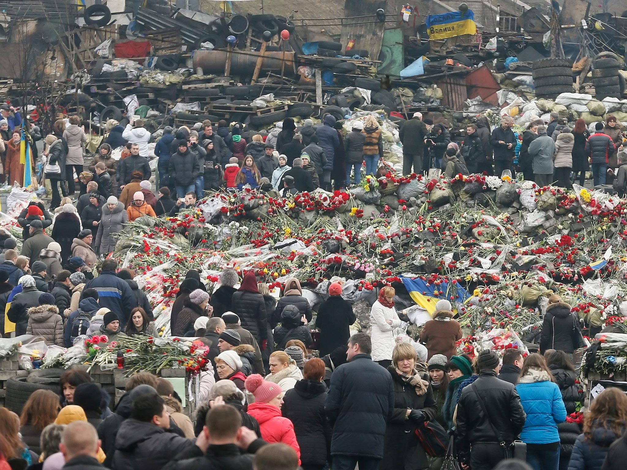
[[[527,414],[520,440],[527,444],[559,442],[557,423],[566,420],[566,407],[557,384],[550,380],[518,384],[516,391]]]

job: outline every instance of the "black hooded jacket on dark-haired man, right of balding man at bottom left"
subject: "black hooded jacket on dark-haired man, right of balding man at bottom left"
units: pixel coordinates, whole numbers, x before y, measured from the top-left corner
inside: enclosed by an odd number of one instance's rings
[[[179,452],[195,446],[185,439],[149,422],[133,418],[124,420],[115,436],[115,470],[150,468],[161,470]]]

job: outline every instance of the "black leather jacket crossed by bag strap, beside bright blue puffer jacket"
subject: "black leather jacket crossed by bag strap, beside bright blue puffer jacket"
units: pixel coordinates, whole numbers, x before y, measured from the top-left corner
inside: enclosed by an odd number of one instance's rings
[[[478,394],[489,416],[485,416]],[[491,414],[490,410],[493,410]],[[471,444],[515,441],[520,436],[526,417],[514,385],[497,379],[493,370],[482,370],[472,385],[463,388],[457,403],[457,444],[460,460],[464,463],[469,461]],[[490,422],[500,436],[494,435]]]

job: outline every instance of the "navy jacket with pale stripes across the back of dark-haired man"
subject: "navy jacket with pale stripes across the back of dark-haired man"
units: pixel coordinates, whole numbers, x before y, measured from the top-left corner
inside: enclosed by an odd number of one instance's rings
[[[90,288],[98,292],[98,304],[101,307],[117,313],[120,317],[120,329],[124,330],[130,311],[137,306],[137,300],[127,281],[120,279],[113,271],[102,271],[100,276],[85,284],[85,289]]]

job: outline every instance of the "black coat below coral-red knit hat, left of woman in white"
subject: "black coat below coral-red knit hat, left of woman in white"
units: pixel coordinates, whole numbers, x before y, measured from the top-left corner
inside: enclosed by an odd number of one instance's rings
[[[357,317],[352,305],[341,295],[330,296],[318,308],[315,326],[320,330],[320,357],[345,346],[350,337],[349,326]]]

